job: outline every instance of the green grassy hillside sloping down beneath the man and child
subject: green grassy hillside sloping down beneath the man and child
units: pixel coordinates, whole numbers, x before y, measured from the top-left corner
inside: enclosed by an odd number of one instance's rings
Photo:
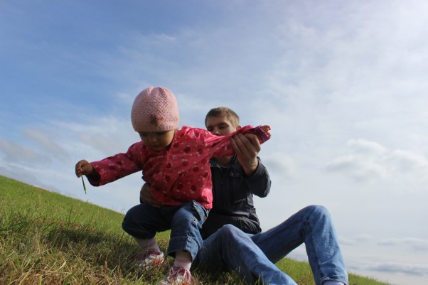
[[[145,272],[129,262],[138,247],[122,230],[124,215],[0,176],[0,285],[156,284],[173,261]],[[161,249],[168,232],[157,236]],[[278,267],[314,285],[309,264]],[[245,284],[235,274],[193,272],[198,284]],[[350,284],[387,285],[350,274]]]

